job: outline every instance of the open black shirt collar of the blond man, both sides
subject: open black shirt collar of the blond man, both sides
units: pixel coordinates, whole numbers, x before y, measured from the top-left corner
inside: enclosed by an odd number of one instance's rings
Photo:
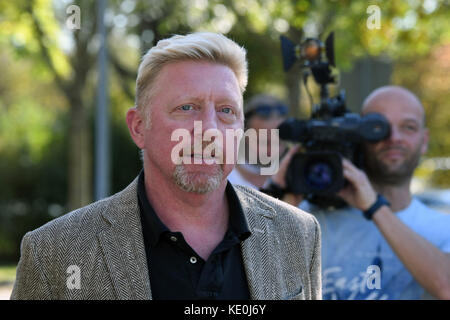
[[[142,170],[139,174],[137,193],[142,224],[145,224],[145,228],[149,231],[147,234],[149,236],[148,239],[150,241],[150,245],[155,246],[160,236],[165,232],[170,232],[170,230],[159,219],[152,205],[148,201],[147,193],[145,191],[144,170]],[[251,232],[239,198],[230,182],[227,183],[225,193],[227,195],[230,213],[228,231],[236,235],[240,241],[244,241],[251,235]]]

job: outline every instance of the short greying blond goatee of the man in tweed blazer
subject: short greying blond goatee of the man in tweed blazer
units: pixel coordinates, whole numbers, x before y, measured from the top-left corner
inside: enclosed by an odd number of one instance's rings
[[[221,165],[215,166],[214,173],[188,172],[182,164],[177,165],[172,178],[181,190],[205,194],[216,190],[223,179],[223,168]]]

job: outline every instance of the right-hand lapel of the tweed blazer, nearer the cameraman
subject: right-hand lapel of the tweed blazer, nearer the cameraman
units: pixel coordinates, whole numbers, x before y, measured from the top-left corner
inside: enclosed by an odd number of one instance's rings
[[[242,258],[253,300],[281,299],[282,273],[277,266],[277,235],[273,232],[274,209],[239,189],[236,193],[252,235],[241,244]],[[281,284],[281,285],[280,285]]]

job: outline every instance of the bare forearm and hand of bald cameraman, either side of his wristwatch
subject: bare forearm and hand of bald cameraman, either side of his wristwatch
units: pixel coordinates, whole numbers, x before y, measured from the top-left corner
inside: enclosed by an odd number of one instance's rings
[[[339,196],[348,204],[367,210],[376,199],[369,179],[348,160],[344,160],[343,168],[350,184]],[[387,206],[380,207],[372,220],[417,282],[434,297],[450,299],[450,255],[407,227]]]

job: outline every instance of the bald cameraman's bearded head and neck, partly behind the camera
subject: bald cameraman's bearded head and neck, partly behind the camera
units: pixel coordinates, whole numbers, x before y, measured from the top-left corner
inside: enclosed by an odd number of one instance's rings
[[[366,145],[366,173],[375,189],[388,198],[392,210],[399,211],[411,202],[411,178],[428,148],[425,112],[414,94],[397,86],[372,92],[361,113],[370,112],[388,119],[391,135],[380,143]]]

